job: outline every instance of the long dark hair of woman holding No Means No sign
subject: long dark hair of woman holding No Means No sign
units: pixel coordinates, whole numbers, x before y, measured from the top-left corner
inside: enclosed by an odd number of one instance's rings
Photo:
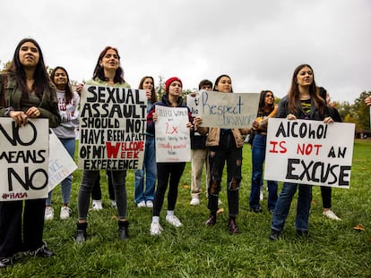
[[[30,94],[30,90],[27,87],[26,72],[24,72],[24,68],[20,61],[20,55],[19,55],[22,45],[27,42],[32,43],[34,46],[36,46],[36,48],[38,48],[38,51],[39,51],[39,63],[37,63],[35,72],[33,73],[34,83],[32,85],[31,90],[35,91],[36,96],[38,96],[41,99],[43,94],[49,93],[48,89],[46,89],[49,84],[49,76],[47,74],[47,68],[44,63],[44,55],[42,55],[41,48],[35,39],[23,38],[18,43],[14,51],[13,60],[9,64],[6,71],[10,72],[13,75],[18,86],[22,90],[22,97],[28,98]]]

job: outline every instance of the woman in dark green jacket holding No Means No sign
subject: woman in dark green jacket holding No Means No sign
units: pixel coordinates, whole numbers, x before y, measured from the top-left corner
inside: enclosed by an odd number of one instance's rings
[[[20,127],[30,118],[46,118],[51,128],[60,123],[56,88],[34,39],[21,40],[0,80],[0,116],[13,118]],[[44,214],[45,198],[0,202],[0,268],[12,265],[20,251],[32,257],[53,256],[42,240]]]

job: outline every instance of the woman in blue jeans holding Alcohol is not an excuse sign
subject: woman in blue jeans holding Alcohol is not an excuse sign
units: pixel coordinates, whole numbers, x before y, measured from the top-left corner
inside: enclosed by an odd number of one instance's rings
[[[333,122],[327,116],[324,98],[320,97],[315,86],[313,69],[308,64],[300,64],[294,71],[291,87],[287,96],[282,97],[279,104],[278,118],[288,120],[315,120],[325,123]],[[298,207],[295,229],[299,236],[307,237],[310,203],[312,201],[312,186],[300,183],[283,182],[280,196],[273,211],[271,223],[271,240],[278,240],[289,215],[289,206],[298,189]]]

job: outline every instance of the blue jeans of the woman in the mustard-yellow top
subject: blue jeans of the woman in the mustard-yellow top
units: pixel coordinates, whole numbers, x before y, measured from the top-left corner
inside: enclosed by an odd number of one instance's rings
[[[252,147],[253,172],[251,175],[251,193],[250,207],[260,207],[259,193],[260,187],[263,185],[263,164],[265,160],[265,146],[267,136],[263,134],[255,134]],[[271,169],[272,170],[272,169]],[[270,169],[268,169],[270,171]],[[268,209],[274,209],[277,201],[277,181],[267,181],[268,185]]]

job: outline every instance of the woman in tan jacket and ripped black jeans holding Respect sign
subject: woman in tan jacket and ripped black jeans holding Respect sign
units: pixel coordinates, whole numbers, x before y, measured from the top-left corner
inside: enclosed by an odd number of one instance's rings
[[[215,80],[214,91],[222,93],[232,93],[232,80],[228,75],[220,75]],[[200,117],[194,119],[194,125],[197,127],[201,124]],[[242,147],[244,138],[248,129],[220,129],[220,128],[195,128],[201,134],[207,135],[206,147],[209,147],[209,164],[211,181],[208,186],[208,208],[210,210],[209,219],[206,225],[213,226],[216,223],[218,211],[219,192],[221,190],[221,177],[224,164],[227,162],[227,184],[228,184],[228,206],[229,206],[229,225],[228,229],[231,234],[237,234],[238,228],[236,216],[238,215],[238,190],[241,182],[242,167]]]

